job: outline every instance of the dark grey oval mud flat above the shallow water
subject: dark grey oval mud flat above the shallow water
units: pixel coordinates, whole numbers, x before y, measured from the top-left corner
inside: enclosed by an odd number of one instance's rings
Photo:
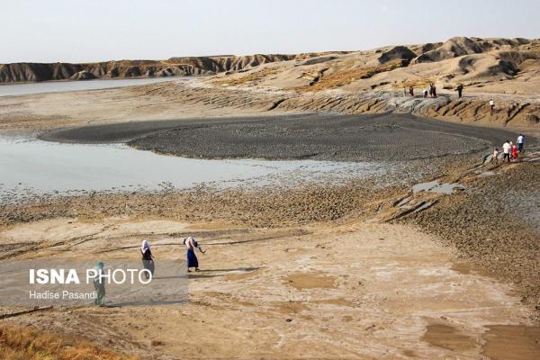
[[[137,121],[46,133],[66,142],[128,142],[181,157],[329,161],[410,160],[466,154],[516,134],[407,114],[291,115]]]

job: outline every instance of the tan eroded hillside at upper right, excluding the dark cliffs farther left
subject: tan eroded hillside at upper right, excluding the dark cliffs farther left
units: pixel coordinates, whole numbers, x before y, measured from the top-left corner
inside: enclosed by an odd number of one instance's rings
[[[452,90],[537,94],[540,40],[452,38],[444,43],[394,46],[266,64],[220,74],[214,85],[259,85],[299,91],[417,91],[429,83]]]

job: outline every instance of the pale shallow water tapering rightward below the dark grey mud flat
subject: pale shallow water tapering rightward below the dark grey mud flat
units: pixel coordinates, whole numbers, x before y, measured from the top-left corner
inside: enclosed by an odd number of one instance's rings
[[[157,155],[121,144],[0,138],[0,201],[21,193],[185,189],[295,184],[381,173],[374,163],[208,160]]]

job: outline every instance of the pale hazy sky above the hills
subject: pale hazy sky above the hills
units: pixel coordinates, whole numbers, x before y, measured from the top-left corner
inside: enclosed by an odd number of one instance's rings
[[[540,38],[539,0],[0,0],[0,63]]]

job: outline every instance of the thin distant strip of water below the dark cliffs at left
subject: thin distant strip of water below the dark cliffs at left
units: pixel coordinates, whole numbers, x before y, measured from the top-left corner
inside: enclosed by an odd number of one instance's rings
[[[63,91],[79,91],[106,89],[111,87],[146,85],[183,79],[184,77],[144,77],[130,79],[97,79],[82,81],[47,81],[40,83],[6,84],[0,85],[0,96],[58,93]]]

